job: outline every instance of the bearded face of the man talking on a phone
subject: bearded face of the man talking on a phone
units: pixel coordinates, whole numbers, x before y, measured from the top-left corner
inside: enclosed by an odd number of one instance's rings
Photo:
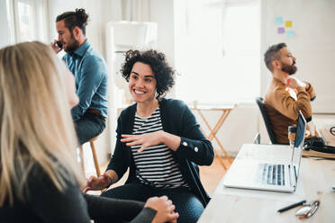
[[[74,52],[79,48],[79,42],[76,40],[73,31],[69,31],[65,26],[64,20],[60,20],[56,22],[56,29],[59,33],[59,41],[63,43],[64,51],[66,52]]]

